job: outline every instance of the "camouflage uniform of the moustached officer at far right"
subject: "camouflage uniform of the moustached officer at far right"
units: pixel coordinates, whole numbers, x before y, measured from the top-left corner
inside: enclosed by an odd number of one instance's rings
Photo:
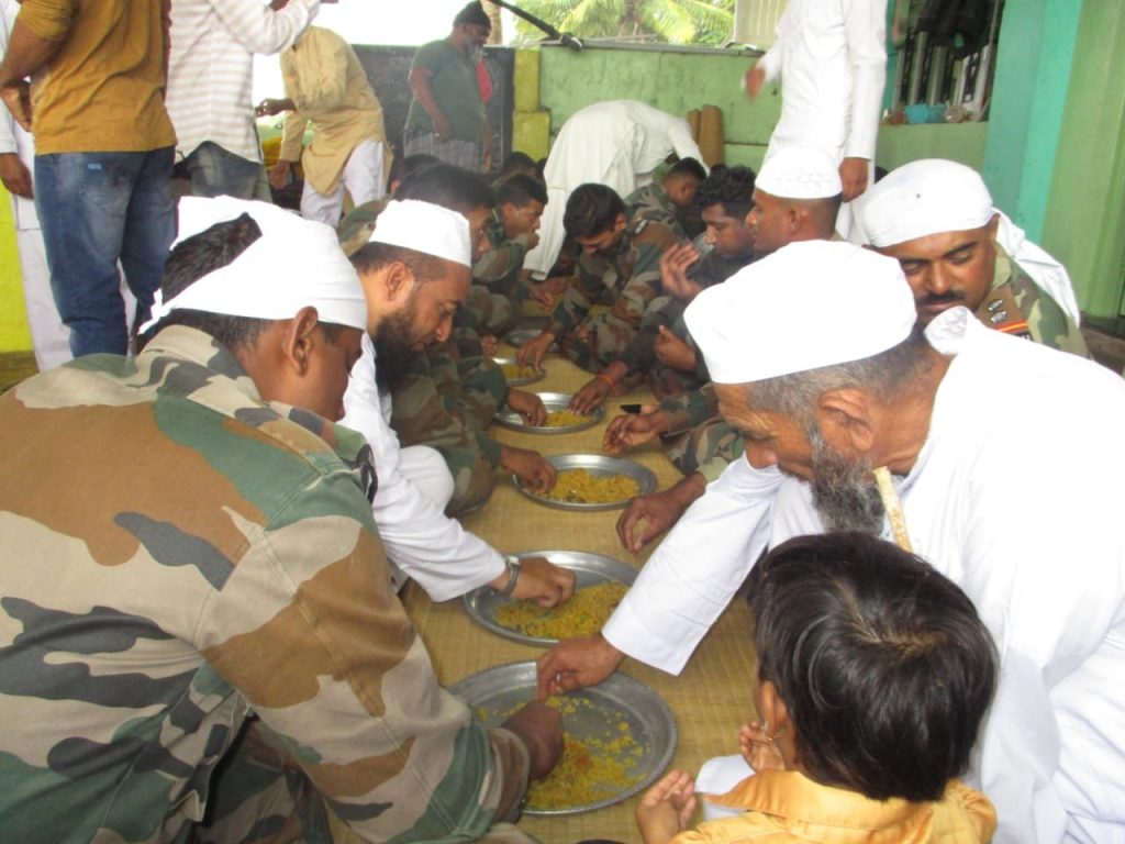
[[[1089,358],[1082,332],[1059,303],[1035,284],[1007,252],[996,246],[996,275],[976,318],[986,326]]]

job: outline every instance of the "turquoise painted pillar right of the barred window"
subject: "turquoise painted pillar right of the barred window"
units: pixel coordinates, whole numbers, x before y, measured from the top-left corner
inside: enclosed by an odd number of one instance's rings
[[[1081,0],[1006,3],[983,176],[997,206],[1040,242],[1051,192]]]

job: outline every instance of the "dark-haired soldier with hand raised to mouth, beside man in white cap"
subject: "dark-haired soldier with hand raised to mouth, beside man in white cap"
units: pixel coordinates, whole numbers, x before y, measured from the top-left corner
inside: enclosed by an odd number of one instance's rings
[[[700,186],[698,199],[708,226],[702,243],[675,245],[660,257],[662,289],[673,296],[649,308],[622,354],[575,393],[570,405],[575,412],[590,413],[618,384],[638,374],[648,377],[657,397],[698,389],[708,381],[705,367],[692,351],[683,313],[699,290],[724,281],[754,260],[754,236],[746,224],[753,195],[754,171],[744,167],[717,169]],[[662,360],[664,349],[676,340],[694,358],[686,361],[690,367]]]

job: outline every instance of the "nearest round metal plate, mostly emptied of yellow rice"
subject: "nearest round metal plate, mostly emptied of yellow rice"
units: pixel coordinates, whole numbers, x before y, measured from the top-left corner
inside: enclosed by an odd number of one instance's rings
[[[450,691],[464,699],[487,727],[498,727],[508,713],[536,699],[536,664],[512,663],[472,674]],[[577,700],[572,700],[577,699]],[[627,782],[603,783],[604,797],[572,806],[542,807],[529,800],[528,815],[578,815],[628,800],[664,773],[676,753],[676,719],[651,688],[620,671],[598,685],[559,699],[577,711],[562,710],[562,729],[579,742],[600,742],[620,735],[630,738],[620,752]],[[598,783],[595,783],[597,785]]]

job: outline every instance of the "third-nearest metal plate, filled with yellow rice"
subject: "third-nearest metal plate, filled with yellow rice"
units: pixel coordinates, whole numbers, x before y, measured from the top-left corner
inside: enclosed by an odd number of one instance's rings
[[[515,488],[532,501],[559,510],[615,510],[630,499],[656,491],[656,475],[639,463],[606,455],[548,455],[558,475],[546,492],[529,490],[515,475]]]

